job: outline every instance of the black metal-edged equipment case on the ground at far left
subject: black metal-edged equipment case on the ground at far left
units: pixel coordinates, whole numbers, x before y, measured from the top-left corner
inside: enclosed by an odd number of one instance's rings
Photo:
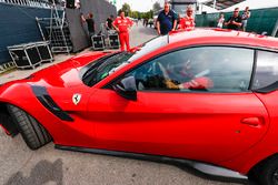
[[[8,47],[12,61],[18,69],[34,69],[42,62],[52,62],[49,42],[30,42]]]

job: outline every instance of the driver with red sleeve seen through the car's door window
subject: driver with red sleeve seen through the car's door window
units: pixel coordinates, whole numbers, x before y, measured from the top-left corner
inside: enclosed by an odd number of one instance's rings
[[[201,62],[191,62],[189,59],[188,61],[183,62],[182,65],[179,68],[179,72],[175,71],[176,74],[179,74],[178,83],[173,81],[172,78],[166,79],[165,83],[167,89],[171,90],[208,90],[214,88],[214,82],[208,74],[210,70],[208,69],[208,59],[199,60]],[[171,76],[171,75],[169,75]]]

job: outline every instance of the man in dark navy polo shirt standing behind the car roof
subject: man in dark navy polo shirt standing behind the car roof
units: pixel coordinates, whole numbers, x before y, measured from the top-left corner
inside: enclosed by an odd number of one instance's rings
[[[159,13],[157,19],[158,34],[168,34],[177,28],[178,16],[175,11],[170,10],[170,3],[165,3],[165,9]]]

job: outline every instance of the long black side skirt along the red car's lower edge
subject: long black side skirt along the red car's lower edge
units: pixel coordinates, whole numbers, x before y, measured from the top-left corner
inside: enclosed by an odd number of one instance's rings
[[[140,153],[129,153],[129,152],[119,152],[119,151],[107,151],[107,150],[97,150],[97,148],[85,148],[85,147],[76,147],[76,146],[62,146],[54,145],[58,150],[63,151],[75,151],[82,153],[92,153],[100,155],[111,155],[117,157],[132,158],[132,160],[142,160],[150,161],[157,163],[163,163],[169,165],[175,165],[181,169],[185,169],[188,173],[200,176],[202,178],[221,181],[221,182],[235,182],[235,183],[247,183],[247,176],[239,174],[235,171],[226,169],[222,167],[218,167],[211,164],[206,164],[196,161],[189,161],[183,158],[173,158],[161,155],[149,155],[149,154],[140,154]],[[193,169],[193,171],[192,171]],[[219,173],[219,171],[222,171]]]

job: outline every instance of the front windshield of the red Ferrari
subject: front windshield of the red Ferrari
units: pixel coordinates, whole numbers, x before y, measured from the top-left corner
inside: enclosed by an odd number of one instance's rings
[[[168,35],[158,37],[143,43],[136,52],[118,52],[91,62],[81,70],[86,85],[93,86],[113,72],[168,43]]]

